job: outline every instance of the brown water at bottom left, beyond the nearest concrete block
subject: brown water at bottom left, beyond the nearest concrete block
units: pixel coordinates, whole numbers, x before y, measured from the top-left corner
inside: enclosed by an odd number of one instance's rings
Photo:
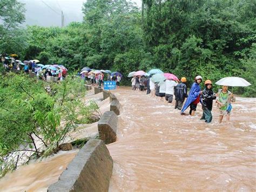
[[[47,188],[58,181],[59,175],[66,169],[78,150],[59,152],[41,162],[22,166],[15,172],[6,174],[0,180],[0,191],[47,191]]]

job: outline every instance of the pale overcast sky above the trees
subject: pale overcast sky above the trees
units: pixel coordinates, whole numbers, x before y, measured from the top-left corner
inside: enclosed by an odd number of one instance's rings
[[[25,3],[25,25],[61,26],[63,10],[65,25],[83,20],[82,5],[86,0],[18,0]],[[142,0],[132,0],[141,7]]]

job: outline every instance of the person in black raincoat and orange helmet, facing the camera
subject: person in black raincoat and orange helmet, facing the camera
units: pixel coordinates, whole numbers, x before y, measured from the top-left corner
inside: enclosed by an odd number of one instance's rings
[[[203,116],[201,120],[205,120],[206,123],[211,123],[212,121],[212,101],[216,98],[212,90],[211,80],[205,81],[205,89],[200,95],[201,104],[203,109]]]

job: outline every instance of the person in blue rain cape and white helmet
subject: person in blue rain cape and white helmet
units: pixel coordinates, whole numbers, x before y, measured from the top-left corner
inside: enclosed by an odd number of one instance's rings
[[[192,84],[192,87],[190,89],[190,94],[187,97],[187,100],[181,109],[181,115],[184,114],[184,111],[190,106],[190,115],[194,116],[194,113],[197,110],[197,104],[200,102],[200,94],[201,94],[201,88],[199,84],[203,81],[203,77],[200,75],[196,76],[195,82]]]

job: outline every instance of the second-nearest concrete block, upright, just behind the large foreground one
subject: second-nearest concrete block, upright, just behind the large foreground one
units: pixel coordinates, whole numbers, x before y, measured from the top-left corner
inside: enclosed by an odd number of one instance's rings
[[[99,138],[105,144],[113,143],[117,140],[117,115],[113,111],[106,111],[98,122]]]

